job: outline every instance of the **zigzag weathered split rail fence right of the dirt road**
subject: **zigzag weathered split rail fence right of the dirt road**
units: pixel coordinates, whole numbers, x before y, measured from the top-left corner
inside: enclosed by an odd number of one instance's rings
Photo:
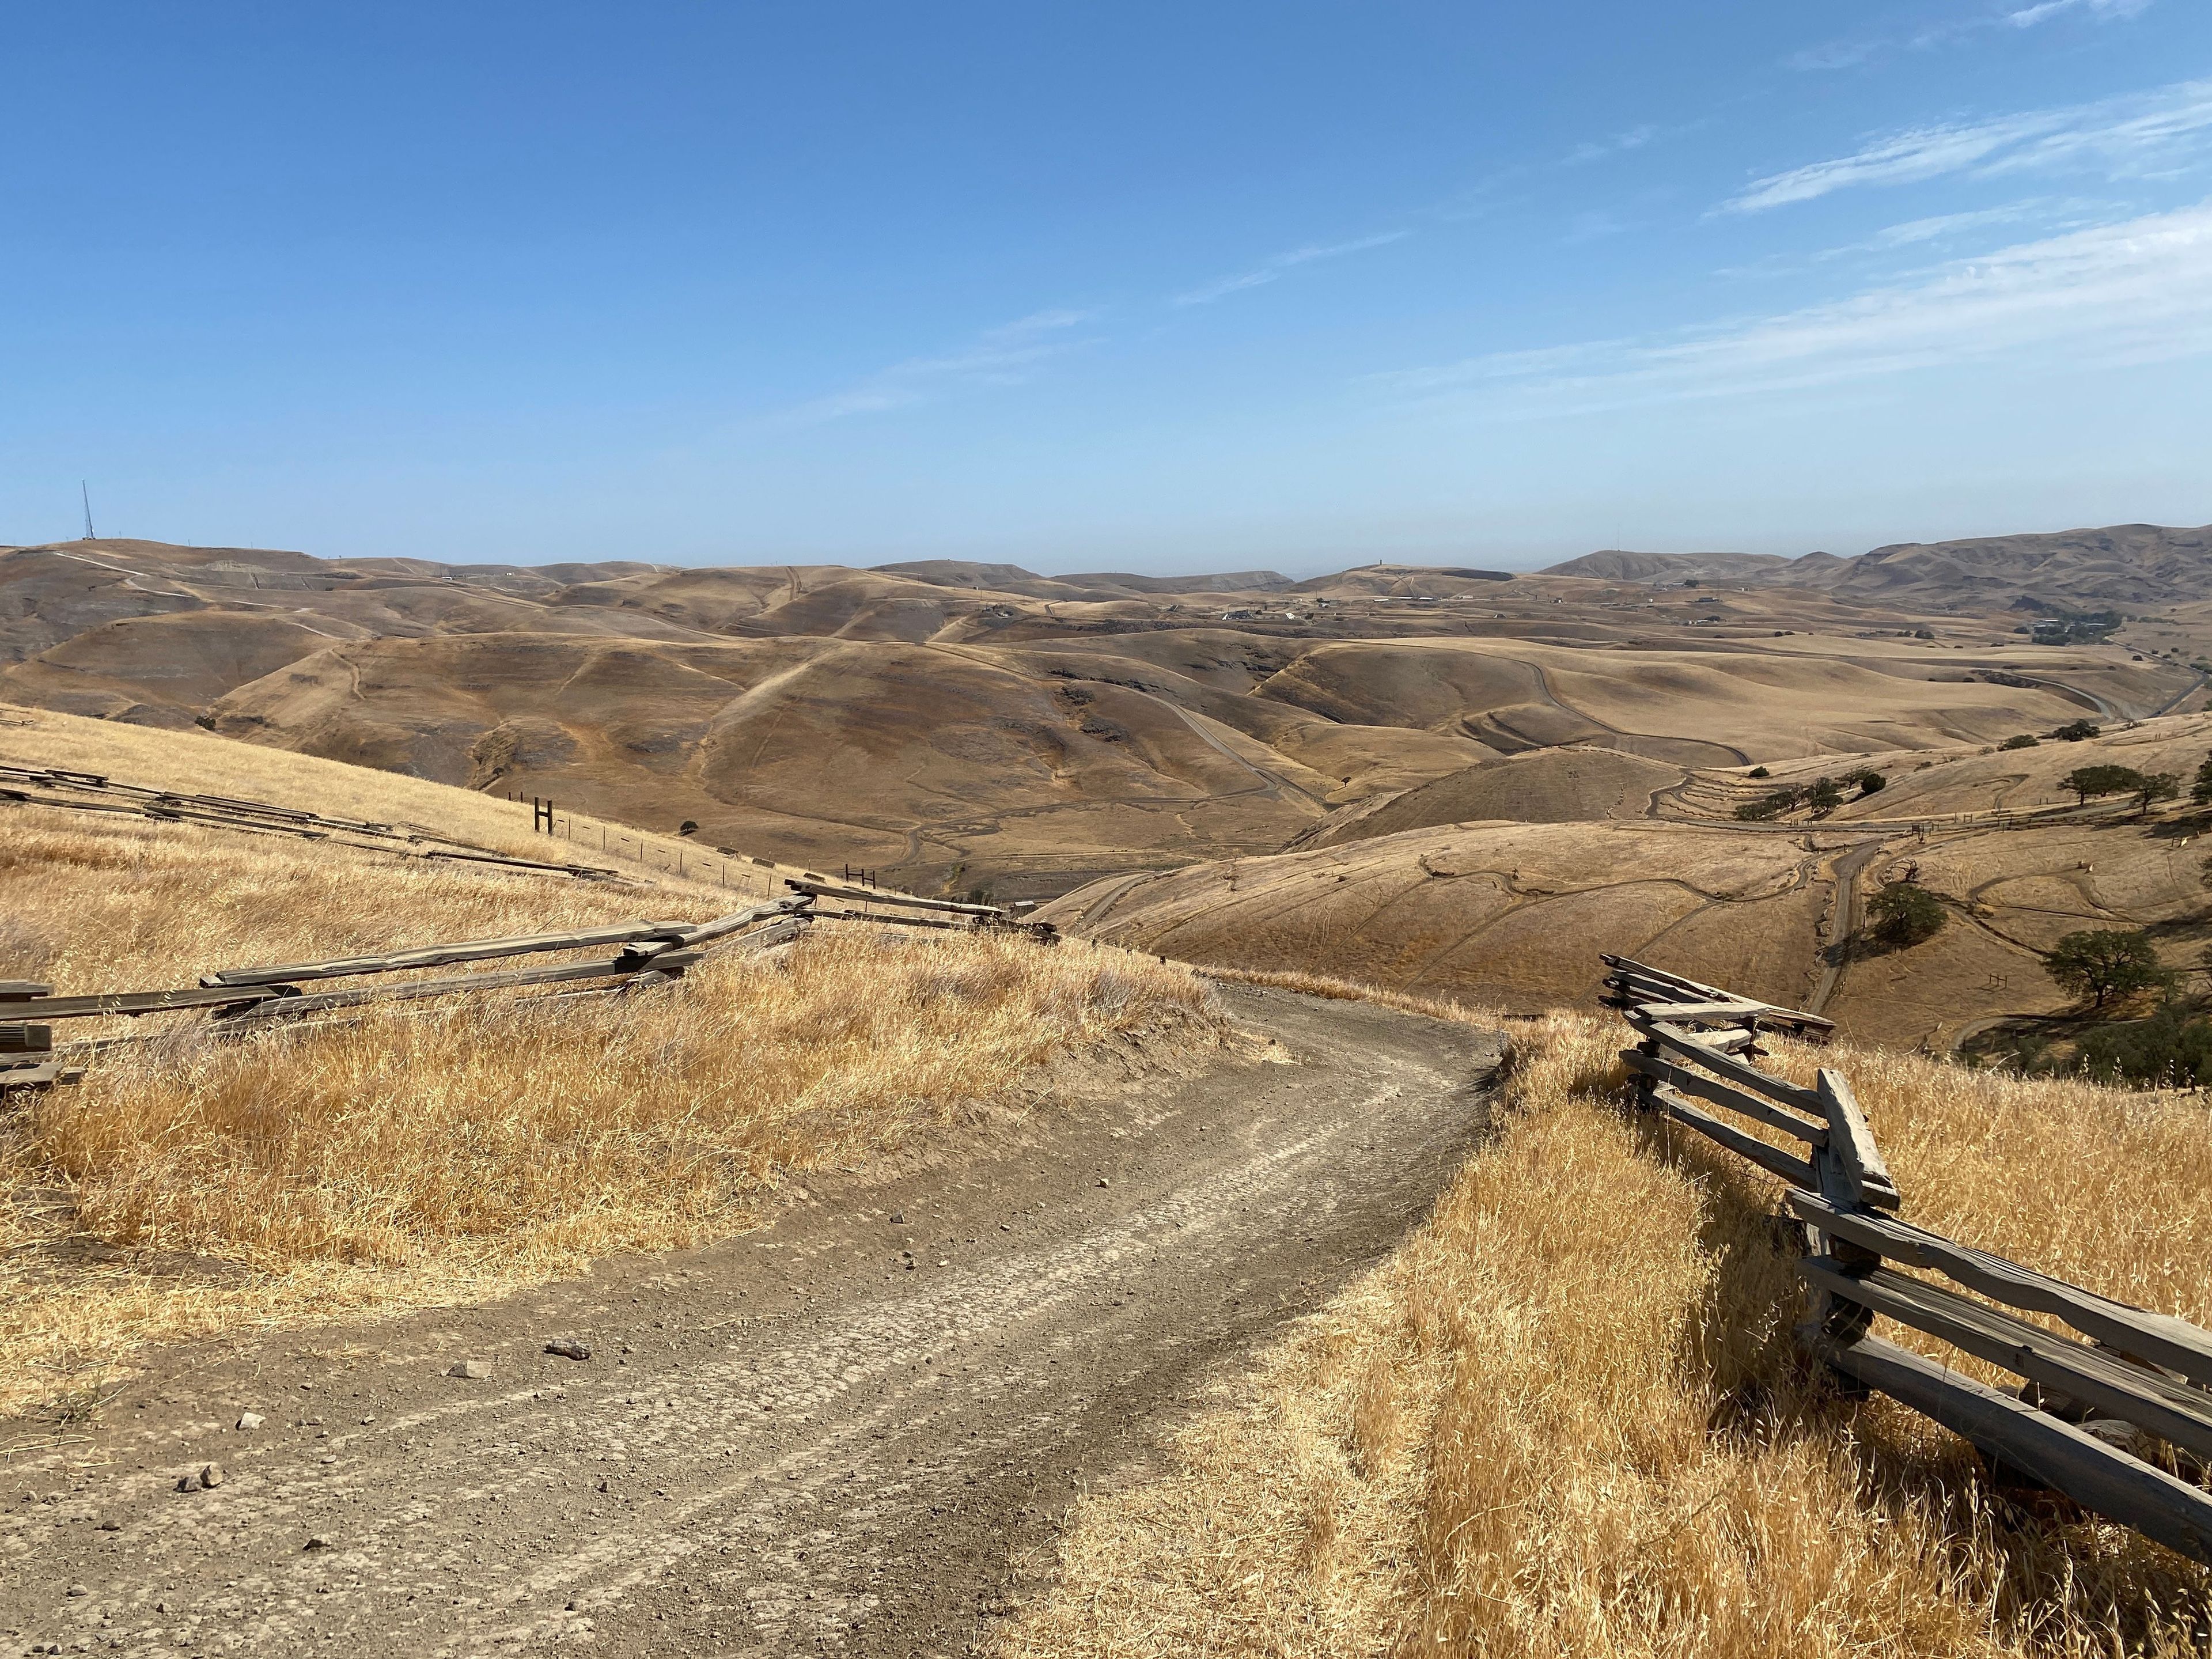
[[[1621,1057],[1646,1110],[1787,1183],[1783,1203],[1807,1241],[1798,1336],[1816,1358],[1942,1422],[1993,1464],[2212,1564],[2212,1493],[2174,1473],[2212,1467],[2212,1334],[1902,1221],[1902,1194],[1849,1079],[1820,1068],[1805,1088],[1752,1064],[1765,1033],[1825,1042],[1834,1026],[1820,1015],[1621,956],[1604,962],[1606,1002],[1641,1037]],[[2046,1314],[2086,1340],[2008,1310]],[[2020,1389],[2002,1394],[1874,1336],[1878,1316],[2011,1371]]]

